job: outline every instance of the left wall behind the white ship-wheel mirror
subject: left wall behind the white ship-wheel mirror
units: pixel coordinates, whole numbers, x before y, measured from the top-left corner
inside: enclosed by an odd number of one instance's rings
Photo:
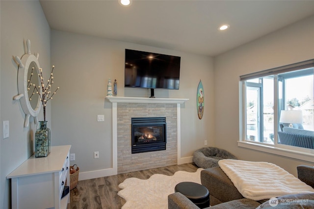
[[[17,64],[13,56],[21,57],[24,41],[31,41],[31,52],[39,52],[39,64],[50,71],[50,27],[39,1],[0,1],[0,124],[9,121],[10,136],[3,139],[0,134],[0,208],[8,209],[10,184],[6,176],[32,155],[34,131],[33,118],[30,126],[24,128],[25,114],[19,101],[13,101],[18,94]],[[44,76],[46,74],[44,73]],[[51,118],[50,104],[47,117]],[[43,113],[39,120],[43,119]],[[50,120],[50,119],[49,119]],[[48,124],[50,126],[50,123]]]

